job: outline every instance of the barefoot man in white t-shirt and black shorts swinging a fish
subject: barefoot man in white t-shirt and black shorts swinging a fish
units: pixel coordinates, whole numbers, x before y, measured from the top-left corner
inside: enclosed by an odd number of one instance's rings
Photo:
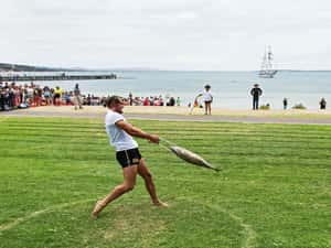
[[[160,138],[156,134],[147,133],[126,121],[122,116],[124,101],[120,97],[111,96],[107,99],[106,106],[108,108],[105,118],[106,131],[110,144],[116,148],[116,159],[122,168],[124,182],[96,203],[94,211],[92,212],[92,217],[96,218],[109,203],[134,190],[137,174],[143,179],[152,204],[156,206],[168,206],[168,204],[162,203],[157,196],[151,173],[139,152],[138,143],[134,140],[132,136],[147,139],[153,143],[159,143]]]

